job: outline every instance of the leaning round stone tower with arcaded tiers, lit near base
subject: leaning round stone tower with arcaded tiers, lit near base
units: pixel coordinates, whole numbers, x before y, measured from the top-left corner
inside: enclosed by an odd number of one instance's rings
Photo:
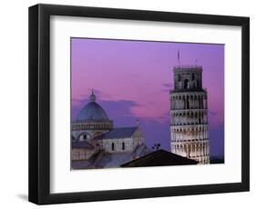
[[[207,91],[202,88],[202,67],[175,66],[170,91],[171,152],[210,164]]]

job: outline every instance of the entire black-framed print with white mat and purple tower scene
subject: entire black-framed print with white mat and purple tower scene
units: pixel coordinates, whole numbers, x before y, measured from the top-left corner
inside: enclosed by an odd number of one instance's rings
[[[29,8],[29,201],[249,191],[250,20]]]

